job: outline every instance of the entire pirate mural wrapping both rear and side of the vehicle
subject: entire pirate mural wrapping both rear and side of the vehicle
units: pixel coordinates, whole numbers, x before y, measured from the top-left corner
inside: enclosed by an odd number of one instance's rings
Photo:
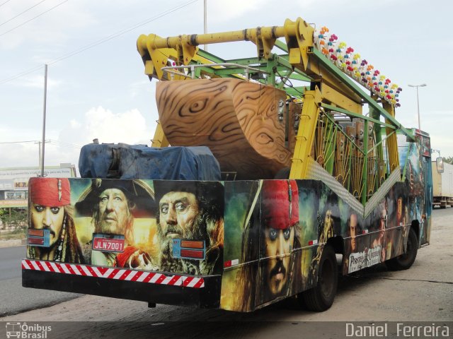
[[[328,239],[343,274],[403,254],[410,173],[365,216],[317,180],[33,178],[28,258],[222,275],[220,307],[252,311],[314,287]]]

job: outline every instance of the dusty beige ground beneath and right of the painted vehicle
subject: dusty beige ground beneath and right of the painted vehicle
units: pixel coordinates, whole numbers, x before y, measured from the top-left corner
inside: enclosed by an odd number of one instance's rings
[[[432,216],[431,244],[418,251],[409,270],[395,272],[378,265],[340,277],[336,301],[331,309],[321,313],[299,309],[291,302],[248,314],[161,304],[149,309],[144,302],[84,295],[52,307],[36,304],[35,307],[45,308],[6,316],[0,321],[50,324],[54,326],[52,335],[58,336],[47,338],[217,339],[346,338],[345,322],[362,321],[369,326],[380,321],[404,325],[425,321],[427,326],[447,324],[448,338],[452,338],[453,208],[436,209]],[[401,338],[395,334],[396,323],[389,323],[389,327],[386,338]]]

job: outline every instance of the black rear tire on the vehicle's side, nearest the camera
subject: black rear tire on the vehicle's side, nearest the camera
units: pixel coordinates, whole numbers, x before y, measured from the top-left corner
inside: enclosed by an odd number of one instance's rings
[[[325,246],[319,260],[318,283],[315,287],[302,292],[306,309],[326,311],[333,304],[338,286],[338,266],[332,246]]]

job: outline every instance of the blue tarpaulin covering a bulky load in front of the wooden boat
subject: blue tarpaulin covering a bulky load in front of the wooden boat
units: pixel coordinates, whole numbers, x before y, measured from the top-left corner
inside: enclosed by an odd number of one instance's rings
[[[81,149],[79,172],[82,178],[221,180],[219,162],[205,146],[91,143]]]

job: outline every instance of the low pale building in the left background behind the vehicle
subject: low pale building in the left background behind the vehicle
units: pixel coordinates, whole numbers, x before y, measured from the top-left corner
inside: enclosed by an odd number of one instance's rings
[[[0,168],[0,208],[28,206],[28,179],[39,177],[40,167]],[[74,178],[76,166],[69,163],[44,167],[45,177]]]

